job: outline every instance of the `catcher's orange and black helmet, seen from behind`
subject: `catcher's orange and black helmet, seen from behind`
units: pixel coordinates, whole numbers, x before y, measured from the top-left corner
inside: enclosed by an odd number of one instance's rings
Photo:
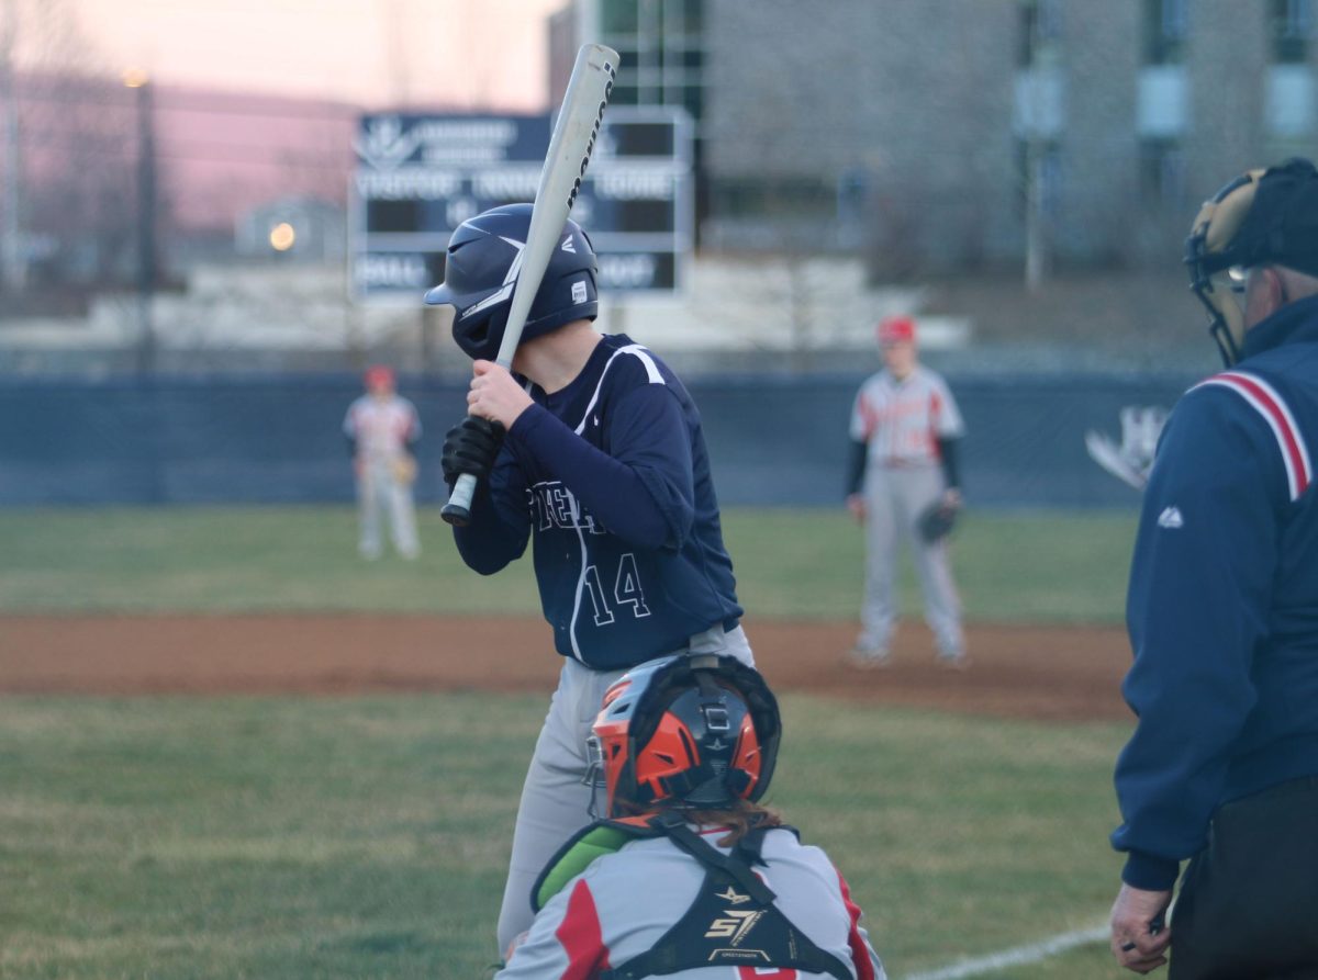
[[[609,817],[656,803],[713,809],[759,800],[774,776],[782,721],[759,673],[735,657],[677,655],[623,674],[592,727]]]

